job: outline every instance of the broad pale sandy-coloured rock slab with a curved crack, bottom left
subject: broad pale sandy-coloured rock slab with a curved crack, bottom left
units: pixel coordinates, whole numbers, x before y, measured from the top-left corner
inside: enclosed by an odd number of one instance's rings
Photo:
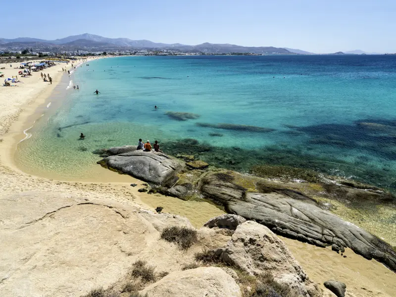
[[[25,192],[1,198],[0,209],[0,296],[108,287],[152,248],[146,237],[157,236],[136,207],[115,201]]]

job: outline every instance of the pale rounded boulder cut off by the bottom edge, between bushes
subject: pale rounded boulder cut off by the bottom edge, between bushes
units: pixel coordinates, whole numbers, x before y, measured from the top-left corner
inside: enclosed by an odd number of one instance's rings
[[[172,272],[142,291],[146,293],[149,297],[241,297],[235,280],[218,267]]]

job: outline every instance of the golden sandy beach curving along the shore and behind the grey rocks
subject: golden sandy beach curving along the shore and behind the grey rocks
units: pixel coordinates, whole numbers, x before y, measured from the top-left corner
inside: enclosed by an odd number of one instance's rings
[[[77,62],[76,64],[78,64]],[[14,69],[19,63],[5,64],[1,61],[0,70],[4,78],[15,76],[20,69]],[[223,213],[216,206],[207,202],[183,201],[164,197],[159,194],[139,193],[142,181],[130,176],[122,176],[98,166],[99,177],[95,181],[59,181],[29,175],[18,169],[13,160],[17,143],[25,135],[32,122],[31,115],[51,95],[54,88],[62,81],[62,67],[71,70],[69,63],[58,63],[44,71],[52,78],[52,84],[43,82],[40,72],[18,79],[18,87],[0,87],[0,199],[7,199],[15,193],[62,193],[76,199],[112,199],[123,204],[140,208],[153,209],[164,207],[164,212],[180,214],[190,219],[199,228],[209,218]],[[78,71],[78,69],[76,69]],[[111,181],[111,182],[105,182]],[[136,183],[138,187],[131,187]],[[1,222],[0,222],[1,226]],[[363,257],[347,250],[343,258],[331,248],[319,248],[297,241],[284,239],[297,261],[315,282],[323,287],[323,281],[337,278],[347,284],[347,297],[393,297],[396,292],[396,274],[375,260]],[[1,265],[0,265],[1,266]],[[334,297],[324,289],[324,296]]]

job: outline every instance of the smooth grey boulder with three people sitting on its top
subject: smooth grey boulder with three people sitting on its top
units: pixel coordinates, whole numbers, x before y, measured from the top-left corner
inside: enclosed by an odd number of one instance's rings
[[[179,163],[164,153],[143,150],[109,156],[98,163],[155,185],[165,184],[181,168]]]

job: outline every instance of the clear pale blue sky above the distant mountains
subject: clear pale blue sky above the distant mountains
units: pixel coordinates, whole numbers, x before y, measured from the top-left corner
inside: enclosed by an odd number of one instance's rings
[[[56,39],[91,33],[188,45],[396,52],[396,0],[18,0],[14,4],[9,5],[17,11],[1,13],[2,38]]]

